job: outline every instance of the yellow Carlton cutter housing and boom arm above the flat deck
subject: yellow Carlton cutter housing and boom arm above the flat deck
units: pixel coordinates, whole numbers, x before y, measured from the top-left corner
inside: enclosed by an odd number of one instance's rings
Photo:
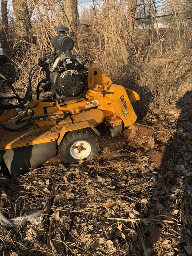
[[[124,126],[128,127],[135,123],[137,117],[131,102],[138,101],[139,95],[133,90],[113,84],[110,78],[96,68],[87,68],[87,71],[88,89],[84,90],[82,99],[69,101],[67,104],[59,104],[58,101],[49,103],[49,105],[47,102],[35,102],[37,105],[34,110],[35,116],[45,114],[45,108],[48,114],[71,112],[72,115],[79,114],[86,109],[97,108],[102,110],[106,123],[112,124],[112,126],[123,122]],[[46,121],[37,121],[37,124],[39,127],[56,125],[57,118],[49,117]]]

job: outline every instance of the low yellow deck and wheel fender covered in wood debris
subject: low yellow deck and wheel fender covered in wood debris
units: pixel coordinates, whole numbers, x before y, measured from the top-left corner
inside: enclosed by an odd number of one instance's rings
[[[79,122],[77,118],[78,116],[81,118],[81,122]],[[94,126],[101,124],[103,118],[104,117],[101,110],[90,109],[88,111],[80,113],[76,116],[76,118],[71,118],[71,116],[68,115],[57,125],[51,125],[49,127],[38,127],[38,125],[33,125],[27,131],[19,133],[0,133],[0,150],[31,146],[53,141],[55,141],[56,144],[59,145],[63,140],[65,133],[84,128],[91,128],[94,132],[100,135]],[[7,126],[12,129],[18,128],[16,127],[13,120],[8,121]]]

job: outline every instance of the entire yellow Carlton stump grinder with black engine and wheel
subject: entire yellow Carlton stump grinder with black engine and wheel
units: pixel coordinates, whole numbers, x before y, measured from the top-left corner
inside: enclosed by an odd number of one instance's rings
[[[95,127],[108,125],[114,137],[137,118],[131,102],[139,95],[113,84],[97,68],[84,67],[80,57],[72,55],[74,42],[65,34],[68,28],[55,30],[54,52],[31,68],[25,97],[9,81],[14,96],[0,97],[0,161],[11,174],[34,169],[56,154],[64,163],[89,161],[100,150]],[[44,78],[34,99],[31,80],[37,68]],[[39,99],[42,91],[52,96]]]

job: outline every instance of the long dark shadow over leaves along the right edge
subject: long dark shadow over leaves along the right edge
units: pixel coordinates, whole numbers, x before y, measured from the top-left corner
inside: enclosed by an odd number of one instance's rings
[[[181,110],[142,218],[148,222],[145,255],[192,255],[192,91],[176,103]],[[159,219],[159,220],[158,220]]]

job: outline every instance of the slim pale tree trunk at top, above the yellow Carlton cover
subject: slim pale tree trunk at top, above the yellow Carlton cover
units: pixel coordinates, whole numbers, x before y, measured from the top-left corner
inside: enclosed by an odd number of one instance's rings
[[[127,8],[128,41],[132,41],[137,0],[129,0]]]

